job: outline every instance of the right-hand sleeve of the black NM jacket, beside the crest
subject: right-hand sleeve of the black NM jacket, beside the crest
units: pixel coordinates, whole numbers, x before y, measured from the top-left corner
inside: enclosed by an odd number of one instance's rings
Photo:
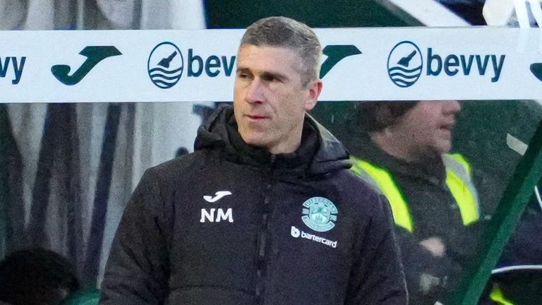
[[[387,200],[378,197],[373,217],[361,233],[346,304],[406,305],[406,283]]]

